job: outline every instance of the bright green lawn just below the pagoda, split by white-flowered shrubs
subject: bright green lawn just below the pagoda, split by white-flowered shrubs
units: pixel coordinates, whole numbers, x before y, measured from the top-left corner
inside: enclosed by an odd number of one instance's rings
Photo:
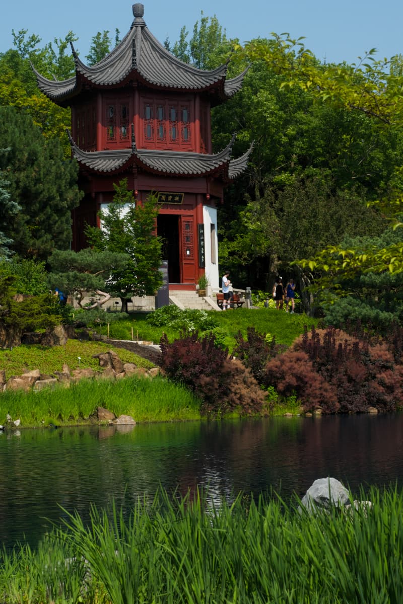
[[[214,317],[217,326],[227,332],[225,345],[231,351],[235,345],[235,335],[242,332],[246,335],[248,327],[262,333],[271,333],[276,336],[279,344],[291,345],[298,335],[303,333],[304,326],[311,327],[317,324],[317,320],[306,315],[291,315],[275,309],[234,309],[225,312],[215,312]],[[128,320],[117,321],[109,326],[109,336],[116,339],[132,339],[132,329],[134,339],[148,340],[158,344],[161,335],[165,332],[172,341],[179,337],[179,330],[170,327],[154,327],[146,321],[147,313],[133,313]],[[106,335],[106,326],[100,327],[101,333]],[[99,331],[99,329],[98,329]]]

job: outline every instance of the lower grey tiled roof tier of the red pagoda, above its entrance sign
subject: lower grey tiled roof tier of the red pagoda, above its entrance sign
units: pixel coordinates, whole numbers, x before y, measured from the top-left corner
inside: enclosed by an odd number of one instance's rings
[[[90,172],[118,173],[131,165],[137,165],[147,172],[165,176],[195,177],[221,173],[228,181],[232,181],[246,169],[252,150],[251,146],[240,158],[231,160],[234,139],[235,135],[225,149],[215,154],[137,149],[134,137],[131,149],[83,151],[77,147],[69,134],[73,156]]]

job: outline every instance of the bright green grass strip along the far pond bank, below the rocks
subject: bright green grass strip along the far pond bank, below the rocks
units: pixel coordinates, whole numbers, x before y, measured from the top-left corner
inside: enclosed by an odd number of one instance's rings
[[[0,423],[9,414],[21,426],[82,423],[97,406],[137,422],[200,419],[200,401],[186,388],[163,377],[82,380],[69,388],[5,391],[0,396]]]

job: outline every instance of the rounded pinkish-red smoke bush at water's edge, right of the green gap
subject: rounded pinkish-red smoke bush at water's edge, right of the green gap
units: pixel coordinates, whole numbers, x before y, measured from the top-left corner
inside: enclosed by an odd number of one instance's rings
[[[304,411],[320,407],[325,413],[335,413],[339,408],[335,388],[315,371],[305,352],[288,350],[271,359],[266,364],[263,385],[274,386],[282,396],[296,394]]]

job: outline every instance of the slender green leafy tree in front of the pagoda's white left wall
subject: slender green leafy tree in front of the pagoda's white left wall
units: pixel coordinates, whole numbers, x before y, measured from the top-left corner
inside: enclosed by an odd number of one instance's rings
[[[154,295],[160,287],[161,240],[156,236],[156,199],[151,195],[143,205],[137,204],[127,190],[127,179],[114,184],[114,190],[108,211],[98,214],[101,228],[88,226],[86,237],[94,251],[129,255],[126,266],[111,271],[106,283],[107,291],[121,299],[124,312],[133,296]]]

